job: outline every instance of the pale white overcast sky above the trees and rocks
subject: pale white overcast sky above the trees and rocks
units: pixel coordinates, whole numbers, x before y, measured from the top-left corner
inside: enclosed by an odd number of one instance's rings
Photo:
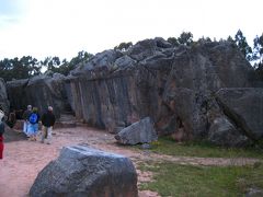
[[[122,42],[263,33],[263,0],[0,0],[0,59],[96,54]]]

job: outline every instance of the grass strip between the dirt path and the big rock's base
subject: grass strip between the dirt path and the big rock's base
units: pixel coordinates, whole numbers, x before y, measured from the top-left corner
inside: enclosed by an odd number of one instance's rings
[[[263,151],[259,149],[220,148],[207,142],[178,143],[170,137],[161,137],[151,143],[150,151],[160,154],[201,157],[201,158],[259,158],[263,159]]]

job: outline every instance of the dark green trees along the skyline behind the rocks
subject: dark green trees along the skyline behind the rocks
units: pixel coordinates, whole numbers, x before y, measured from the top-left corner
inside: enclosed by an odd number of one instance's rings
[[[169,37],[168,42],[174,47],[179,45],[193,46],[196,43],[207,43],[211,42],[209,37],[202,37],[197,42],[193,40],[193,34],[191,32],[182,32],[182,34],[175,37]],[[216,42],[214,39],[214,42]],[[239,30],[235,37],[228,36],[227,39],[220,39],[220,42],[230,42],[242,53],[242,55],[250,62],[255,62],[254,68],[258,70],[263,70],[263,34],[261,36],[255,36],[253,49],[249,46],[247,38],[243,33]],[[118,46],[114,47],[115,50],[126,51],[133,46],[132,42],[121,43]],[[84,50],[79,51],[76,57],[70,61],[67,59],[60,60],[59,57],[46,57],[44,60],[38,61],[32,56],[23,56],[22,58],[4,58],[0,60],[0,78],[5,81],[13,79],[26,79],[33,76],[42,73],[43,70],[62,73],[65,76],[77,68],[80,63],[88,61],[93,55]]]

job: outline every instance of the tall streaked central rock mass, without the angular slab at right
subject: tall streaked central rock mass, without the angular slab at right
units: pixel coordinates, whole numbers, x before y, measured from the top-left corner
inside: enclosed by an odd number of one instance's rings
[[[156,38],[125,53],[98,54],[71,72],[67,92],[78,118],[113,132],[150,116],[159,135],[183,130],[180,140],[208,139],[216,144],[229,140],[227,146],[242,146],[250,136],[218,104],[216,92],[252,86],[252,73],[230,43],[172,47]]]

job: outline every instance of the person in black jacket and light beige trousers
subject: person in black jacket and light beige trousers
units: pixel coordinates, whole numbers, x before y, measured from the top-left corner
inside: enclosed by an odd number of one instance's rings
[[[43,125],[42,140],[41,140],[42,143],[44,143],[46,140],[46,143],[50,144],[52,132],[53,132],[53,127],[55,125],[55,121],[56,121],[56,118],[55,118],[55,115],[53,114],[53,107],[48,106],[47,112],[44,113],[42,116],[42,125]]]

